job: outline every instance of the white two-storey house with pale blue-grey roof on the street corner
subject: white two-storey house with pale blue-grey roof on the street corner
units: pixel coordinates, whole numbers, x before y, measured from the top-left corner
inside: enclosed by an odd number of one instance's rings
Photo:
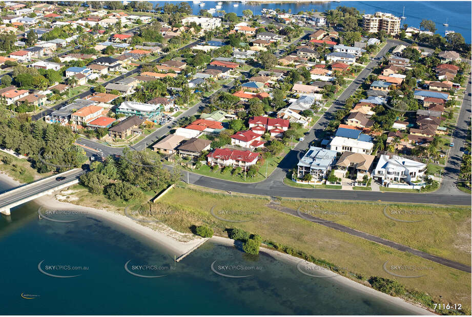
[[[329,174],[336,162],[337,152],[311,146],[297,164],[297,178],[311,174],[315,181],[321,181]]]

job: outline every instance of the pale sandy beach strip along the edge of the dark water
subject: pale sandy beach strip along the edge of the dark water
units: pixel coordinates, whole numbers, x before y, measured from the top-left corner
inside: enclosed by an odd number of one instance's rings
[[[18,181],[13,180],[12,177],[10,177],[9,175],[5,173],[0,173],[0,183],[8,184],[10,186],[18,186],[22,184]],[[176,259],[178,259],[179,261],[182,260],[184,256],[187,256],[188,254],[193,252],[195,249],[200,247],[203,243],[207,242],[208,240],[214,243],[234,247],[234,240],[229,239],[227,237],[215,235],[212,238],[202,238],[202,237],[197,237],[196,235],[193,235],[193,234],[186,234],[186,233],[175,231],[167,226],[166,226],[167,227],[166,229],[168,232],[158,231],[158,230],[154,230],[151,227],[143,226],[137,223],[136,221],[130,219],[129,217],[125,215],[121,215],[113,211],[58,201],[55,195],[56,194],[45,195],[45,196],[37,198],[33,202],[35,202],[36,204],[40,206],[48,207],[48,208],[58,208],[58,209],[70,208],[73,210],[79,210],[79,211],[90,213],[91,215],[96,216],[99,219],[109,221],[114,225],[118,225],[124,229],[130,230],[133,234],[139,235],[141,237],[145,237],[146,239],[154,242],[161,248],[166,249],[169,253],[174,254]],[[187,242],[178,241],[175,239],[175,237],[171,236],[170,232],[178,233],[180,236],[187,236],[187,237],[193,236],[193,239]],[[295,257],[295,256],[282,253],[276,250],[271,250],[268,248],[261,247],[260,251],[270,256],[273,256],[278,261],[282,261],[285,263],[297,265],[300,261],[303,261],[304,264],[316,266],[315,264],[302,260],[299,257]],[[336,274],[335,272],[331,272],[331,271],[330,273]],[[399,297],[382,293],[371,287],[363,285],[359,282],[348,279],[345,276],[339,275],[339,276],[336,276],[335,279],[337,283],[340,283],[347,287],[351,287],[355,291],[361,291],[363,293],[375,296],[376,298],[388,301],[389,303],[393,305],[397,305],[399,307],[402,307],[404,309],[411,311],[413,314],[416,314],[416,315],[434,315],[435,314],[424,307],[420,307],[413,303],[409,303]]]

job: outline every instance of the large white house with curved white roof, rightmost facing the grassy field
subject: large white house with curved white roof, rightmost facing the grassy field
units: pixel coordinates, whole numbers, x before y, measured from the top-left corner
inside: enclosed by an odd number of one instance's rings
[[[396,155],[380,155],[374,170],[374,178],[382,184],[412,183],[421,181],[426,171],[426,164],[405,159]]]

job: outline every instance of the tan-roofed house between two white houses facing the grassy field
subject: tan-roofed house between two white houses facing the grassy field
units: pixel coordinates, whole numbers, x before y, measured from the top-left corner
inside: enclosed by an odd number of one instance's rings
[[[354,172],[357,175],[356,180],[362,181],[364,175],[370,177],[370,171],[374,159],[374,155],[345,151],[342,153],[341,157],[339,157],[338,162],[336,162],[336,170],[334,174],[337,177],[344,177],[346,171],[349,171],[350,173]]]

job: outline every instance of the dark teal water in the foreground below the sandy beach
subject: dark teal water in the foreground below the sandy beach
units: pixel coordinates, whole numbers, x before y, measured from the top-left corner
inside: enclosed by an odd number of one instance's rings
[[[173,255],[115,225],[85,216],[74,223],[38,220],[29,203],[0,216],[2,314],[408,314],[339,284],[305,276],[268,255],[248,257],[207,242],[176,265]],[[70,216],[65,216],[71,219]],[[60,217],[55,217],[59,219]],[[54,278],[55,275],[75,278]],[[140,278],[141,275],[166,275]],[[236,276],[226,278],[214,268]],[[132,265],[174,267],[135,270]],[[80,266],[83,270],[48,268]],[[251,270],[224,270],[243,265]],[[24,299],[21,294],[32,299]]]

